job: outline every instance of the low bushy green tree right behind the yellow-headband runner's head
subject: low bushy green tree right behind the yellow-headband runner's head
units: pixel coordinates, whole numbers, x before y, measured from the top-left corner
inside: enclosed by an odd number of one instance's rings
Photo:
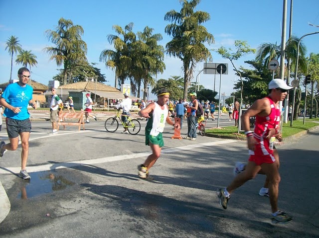
[[[179,76],[171,76],[168,79],[159,79],[152,89],[154,94],[162,88],[166,88],[169,93],[169,99],[178,100],[183,97],[183,78]]]

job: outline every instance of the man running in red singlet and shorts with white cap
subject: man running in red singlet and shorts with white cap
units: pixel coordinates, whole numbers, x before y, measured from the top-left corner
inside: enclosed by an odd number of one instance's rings
[[[231,184],[225,189],[217,189],[220,205],[227,209],[230,194],[248,180],[254,178],[257,173],[263,171],[269,180],[269,200],[272,210],[272,223],[287,224],[292,217],[278,209],[278,193],[280,174],[278,162],[276,162],[273,142],[275,138],[281,140],[278,131],[280,121],[279,101],[283,101],[288,86],[282,79],[273,79],[268,84],[269,96],[259,99],[242,115],[243,129],[247,135],[247,143],[250,157],[247,167],[239,173]],[[250,131],[249,118],[256,116],[255,130]]]

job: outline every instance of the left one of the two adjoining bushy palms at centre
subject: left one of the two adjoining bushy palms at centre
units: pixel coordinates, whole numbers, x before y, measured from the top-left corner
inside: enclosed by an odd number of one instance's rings
[[[107,68],[115,70],[115,87],[117,83],[123,84],[128,78],[132,66],[131,46],[136,41],[133,32],[134,23],[130,22],[124,27],[114,25],[112,28],[117,35],[108,35],[110,44],[114,44],[115,50],[105,49],[100,54],[100,61],[105,62]]]

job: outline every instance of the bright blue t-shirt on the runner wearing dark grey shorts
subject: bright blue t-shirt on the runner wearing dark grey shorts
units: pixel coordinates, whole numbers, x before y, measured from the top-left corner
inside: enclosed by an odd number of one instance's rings
[[[3,115],[16,120],[25,120],[30,117],[27,106],[32,99],[33,88],[26,84],[21,87],[17,82],[9,84],[4,92],[2,98],[5,99],[13,107],[21,107],[19,113],[14,113],[12,110],[5,108]]]

